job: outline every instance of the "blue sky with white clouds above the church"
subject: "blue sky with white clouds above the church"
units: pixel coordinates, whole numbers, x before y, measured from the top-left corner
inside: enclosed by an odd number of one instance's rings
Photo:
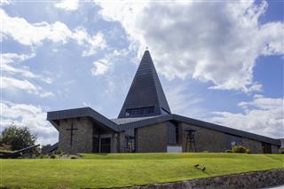
[[[1,130],[58,141],[46,113],[116,118],[146,47],[171,112],[284,138],[281,1],[1,0]]]

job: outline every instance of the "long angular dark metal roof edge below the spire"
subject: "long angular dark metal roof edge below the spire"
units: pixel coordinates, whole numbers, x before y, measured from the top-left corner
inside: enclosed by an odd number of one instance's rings
[[[185,116],[177,114],[162,114],[152,117],[139,117],[139,118],[120,118],[109,120],[102,114],[99,114],[91,107],[83,107],[76,109],[60,110],[47,113],[47,120],[51,123],[56,123],[55,121],[68,118],[78,118],[78,117],[90,117],[95,122],[99,122],[106,128],[114,130],[116,132],[123,130],[130,130],[134,128],[151,126],[161,122],[185,122],[190,125],[199,126],[202,128],[217,130],[227,134],[232,134],[235,136],[240,136],[242,138],[251,138],[257,141],[269,143],[275,146],[280,146],[280,139],[268,138],[261,135],[256,135],[254,133],[246,132],[243,130],[235,130],[233,128],[228,128],[225,126],[217,125],[210,122],[203,122],[200,120],[194,120]]]

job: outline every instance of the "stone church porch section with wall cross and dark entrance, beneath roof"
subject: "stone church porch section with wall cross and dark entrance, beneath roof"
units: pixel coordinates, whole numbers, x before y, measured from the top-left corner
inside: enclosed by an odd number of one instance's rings
[[[88,117],[57,121],[59,150],[66,153],[119,153],[124,133],[106,127]],[[121,147],[122,146],[122,147]]]

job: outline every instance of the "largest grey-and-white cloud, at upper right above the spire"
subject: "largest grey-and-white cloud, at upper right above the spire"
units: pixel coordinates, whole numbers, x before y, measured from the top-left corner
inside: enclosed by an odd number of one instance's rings
[[[260,56],[283,54],[282,22],[261,24],[267,3],[99,2],[106,20],[119,21],[139,53],[150,47],[168,79],[192,77],[211,89],[261,91],[253,81]],[[139,55],[140,56],[140,55]]]

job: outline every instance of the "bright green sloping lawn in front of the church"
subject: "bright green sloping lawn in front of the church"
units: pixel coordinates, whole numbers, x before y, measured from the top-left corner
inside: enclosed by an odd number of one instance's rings
[[[1,186],[101,188],[283,169],[283,154],[83,154],[83,159],[0,160]],[[193,168],[200,164],[206,171]]]

